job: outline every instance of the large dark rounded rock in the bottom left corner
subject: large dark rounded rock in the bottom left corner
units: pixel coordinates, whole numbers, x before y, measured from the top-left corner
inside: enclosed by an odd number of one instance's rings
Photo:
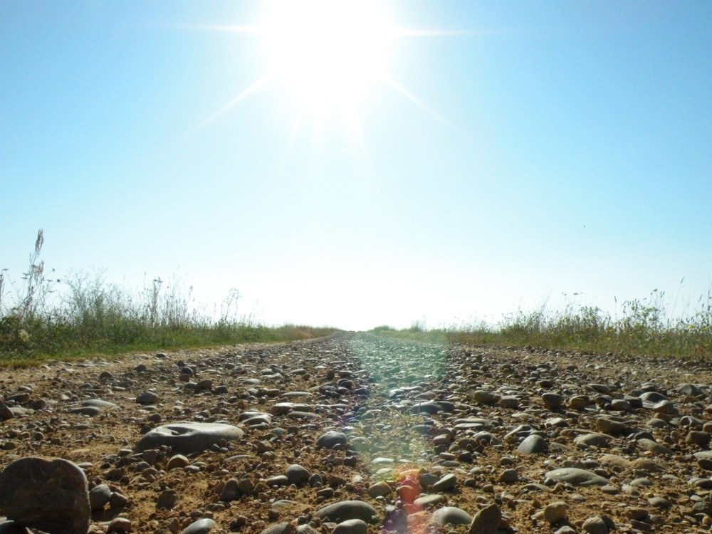
[[[84,471],[63,459],[12,462],[0,473],[0,514],[49,534],[86,534],[91,508]]]

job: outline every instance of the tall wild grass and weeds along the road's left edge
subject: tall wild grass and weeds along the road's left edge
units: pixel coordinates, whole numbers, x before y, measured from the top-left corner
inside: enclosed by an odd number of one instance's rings
[[[60,281],[40,261],[38,231],[21,282],[0,272],[0,365],[33,365],[138,350],[303,340],[335,333],[301,325],[268,327],[239,318],[232,290],[219,313],[201,313],[192,288],[154,278],[138,291],[107,283],[101,272]]]

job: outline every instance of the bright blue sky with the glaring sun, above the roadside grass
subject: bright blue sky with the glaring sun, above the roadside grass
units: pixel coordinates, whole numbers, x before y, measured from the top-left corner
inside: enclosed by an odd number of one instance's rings
[[[58,278],[270,325],[684,313],[711,87],[707,0],[6,1],[0,268],[41,228]]]

